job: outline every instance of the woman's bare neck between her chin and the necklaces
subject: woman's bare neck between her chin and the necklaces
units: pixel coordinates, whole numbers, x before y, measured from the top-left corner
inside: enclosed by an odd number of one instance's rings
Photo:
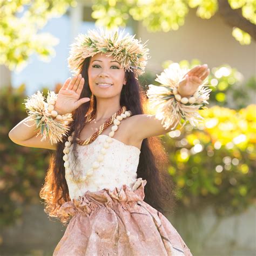
[[[105,120],[116,113],[120,106],[120,100],[114,100],[113,98],[97,98],[97,110],[95,114],[95,122],[99,120]]]

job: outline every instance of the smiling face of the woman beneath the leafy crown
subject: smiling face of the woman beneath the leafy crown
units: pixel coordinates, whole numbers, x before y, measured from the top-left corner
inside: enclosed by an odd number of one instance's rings
[[[120,97],[123,84],[126,84],[120,63],[104,53],[91,57],[88,79],[91,92],[99,98]]]

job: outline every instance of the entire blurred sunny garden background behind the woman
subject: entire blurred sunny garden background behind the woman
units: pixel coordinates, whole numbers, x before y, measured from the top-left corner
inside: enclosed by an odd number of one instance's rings
[[[177,199],[166,217],[193,255],[255,255],[255,10],[250,0],[1,0],[0,255],[52,255],[65,232],[39,198],[52,152],[8,132],[26,117],[26,97],[71,76],[69,45],[96,26],[149,40],[145,90],[172,62],[208,64],[204,122],[161,136]]]

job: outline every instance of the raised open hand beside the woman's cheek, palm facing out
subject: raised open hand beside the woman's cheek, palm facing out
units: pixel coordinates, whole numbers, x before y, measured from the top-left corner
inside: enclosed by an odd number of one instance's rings
[[[55,103],[55,110],[58,114],[72,113],[83,103],[89,102],[90,98],[79,99],[84,86],[84,78],[79,74],[73,78],[66,79],[59,90]]]

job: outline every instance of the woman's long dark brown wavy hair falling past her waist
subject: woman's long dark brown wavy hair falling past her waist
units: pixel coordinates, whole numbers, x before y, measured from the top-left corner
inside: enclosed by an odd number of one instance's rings
[[[74,131],[75,137],[79,136],[83,129],[84,117],[87,112],[96,109],[96,97],[92,96],[92,92],[88,82],[88,68],[90,58],[84,60],[80,73],[84,77],[84,87],[80,98],[89,97],[90,102],[84,103],[73,112],[73,122],[70,127],[69,135]],[[123,86],[120,96],[120,105],[126,106],[131,110],[133,115],[143,114],[146,106],[146,96],[139,85],[138,80],[134,77],[133,72],[125,73],[126,86]],[[45,212],[51,217],[58,217],[59,207],[70,200],[69,189],[65,179],[65,168],[63,160],[63,149],[66,138],[62,143],[57,144],[57,150],[52,154],[49,170],[45,177],[45,183],[40,191],[40,197],[45,200]],[[73,142],[72,152],[76,152],[77,144]],[[139,164],[137,169],[137,177],[147,180],[145,185],[144,201],[156,208],[161,213],[167,207],[173,210],[173,183],[167,173],[168,158],[158,137],[150,137],[143,140],[140,150]],[[74,159],[77,155],[74,153]],[[67,222],[67,218],[59,217],[63,223]]]

